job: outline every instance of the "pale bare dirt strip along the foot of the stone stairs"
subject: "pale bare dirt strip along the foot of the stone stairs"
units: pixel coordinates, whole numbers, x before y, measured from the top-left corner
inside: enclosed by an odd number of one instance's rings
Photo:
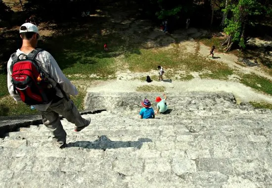
[[[237,103],[249,101],[265,101],[272,103],[272,96],[260,94],[252,88],[241,83],[221,80],[203,80],[195,78],[190,81],[153,81],[151,83],[140,82],[138,80],[112,80],[99,82],[91,86],[87,92],[118,93],[136,92],[136,88],[144,85],[164,86],[165,93],[183,92],[228,92],[234,94]]]

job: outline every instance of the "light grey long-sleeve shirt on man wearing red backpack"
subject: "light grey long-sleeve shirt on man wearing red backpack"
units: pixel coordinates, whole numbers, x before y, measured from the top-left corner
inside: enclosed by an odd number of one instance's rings
[[[20,49],[17,49],[16,55],[19,56],[22,52]],[[26,54],[28,55],[28,54]],[[24,55],[20,55],[20,59],[24,58]],[[51,79],[53,79],[53,82],[58,83],[62,90],[69,95],[77,95],[78,91],[77,88],[70,82],[68,78],[62,73],[61,69],[59,68],[56,60],[53,58],[53,56],[45,51],[42,50],[40,51],[35,58],[39,65],[40,68],[44,71],[45,74],[49,75]],[[9,58],[7,62],[7,88],[9,94],[14,98],[16,101],[21,101],[21,98],[18,94],[14,94],[13,92],[13,84],[11,82],[11,75],[12,75],[12,70],[11,70],[11,64],[12,64],[12,59]],[[52,84],[55,86],[55,84]],[[61,93],[60,89],[56,87],[56,95],[59,97],[64,97],[63,94]],[[38,104],[38,105],[33,105],[37,110],[40,111],[45,111],[51,102],[48,104]]]

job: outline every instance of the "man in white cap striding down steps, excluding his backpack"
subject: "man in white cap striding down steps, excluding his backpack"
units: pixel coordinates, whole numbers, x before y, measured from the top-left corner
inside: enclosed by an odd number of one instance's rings
[[[28,55],[35,47],[37,47],[38,40],[42,39],[38,27],[32,23],[24,23],[20,27],[20,37],[23,40],[23,44],[20,49],[17,49],[17,56],[22,53]],[[20,55],[19,58],[23,59],[25,56]],[[62,73],[53,56],[49,52],[42,50],[38,52],[35,59],[41,70],[48,76],[48,79],[50,78],[52,86],[58,85],[59,88],[55,87],[56,95],[49,103],[33,105],[33,107],[41,112],[43,123],[54,135],[53,143],[57,147],[62,148],[67,146],[66,132],[61,125],[59,114],[65,117],[69,122],[74,123],[76,125],[75,131],[77,132],[90,125],[91,118],[84,119],[81,117],[79,111],[69,97],[70,95],[77,95],[78,91]],[[7,62],[8,92],[16,101],[21,101],[20,96],[14,93],[13,84],[11,82],[11,65],[12,59],[9,58]]]

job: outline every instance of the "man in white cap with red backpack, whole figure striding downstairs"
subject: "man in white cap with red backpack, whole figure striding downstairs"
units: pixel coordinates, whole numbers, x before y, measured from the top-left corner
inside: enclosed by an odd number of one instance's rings
[[[7,88],[15,101],[23,101],[40,111],[45,126],[53,134],[53,143],[66,147],[66,132],[59,114],[75,124],[74,130],[81,131],[91,123],[84,119],[70,95],[77,95],[77,88],[66,78],[53,56],[35,49],[42,40],[39,29],[32,23],[20,27],[22,46],[11,54],[7,62]],[[36,64],[37,66],[34,66]]]

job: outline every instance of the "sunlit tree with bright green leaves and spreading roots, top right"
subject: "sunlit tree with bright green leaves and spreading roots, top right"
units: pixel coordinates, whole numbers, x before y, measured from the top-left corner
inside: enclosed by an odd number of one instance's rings
[[[261,14],[263,6],[257,0],[238,0],[236,4],[227,6],[225,11],[231,12],[231,18],[226,19],[227,27],[224,31],[228,35],[222,46],[229,51],[233,44],[238,44],[240,48],[245,48],[245,27],[253,19],[251,16]],[[249,19],[251,18],[251,20]]]

